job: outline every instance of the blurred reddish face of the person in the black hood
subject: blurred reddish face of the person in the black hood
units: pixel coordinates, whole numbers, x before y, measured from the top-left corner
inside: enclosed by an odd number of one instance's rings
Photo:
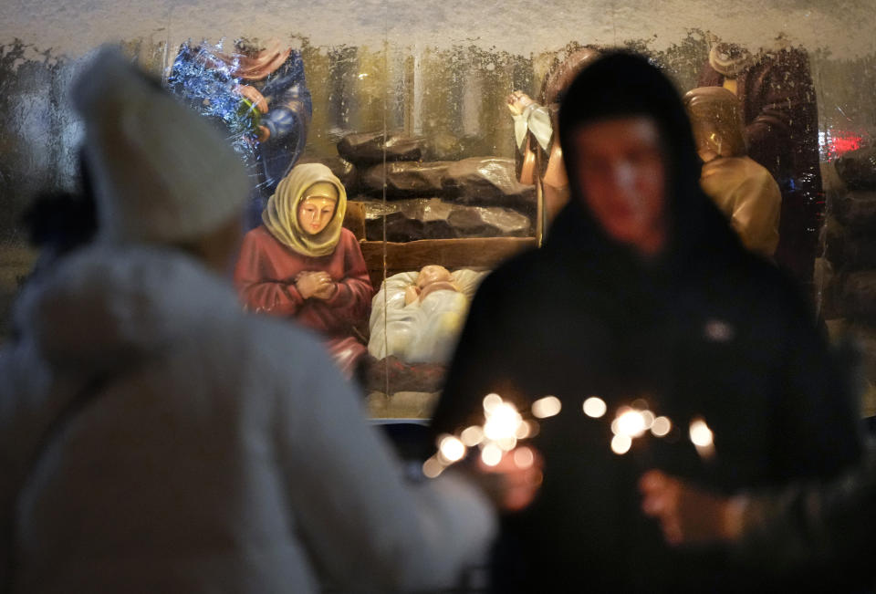
[[[657,124],[646,116],[586,124],[572,133],[585,205],[612,239],[645,255],[666,232],[666,165]]]

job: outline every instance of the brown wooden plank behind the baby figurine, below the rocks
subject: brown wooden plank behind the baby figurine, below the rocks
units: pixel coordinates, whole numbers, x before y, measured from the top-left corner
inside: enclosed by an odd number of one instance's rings
[[[375,287],[383,274],[383,242],[362,241],[362,255]],[[535,237],[474,237],[469,239],[421,239],[386,243],[387,275],[420,270],[440,264],[454,268],[492,268],[512,255],[536,247]]]

